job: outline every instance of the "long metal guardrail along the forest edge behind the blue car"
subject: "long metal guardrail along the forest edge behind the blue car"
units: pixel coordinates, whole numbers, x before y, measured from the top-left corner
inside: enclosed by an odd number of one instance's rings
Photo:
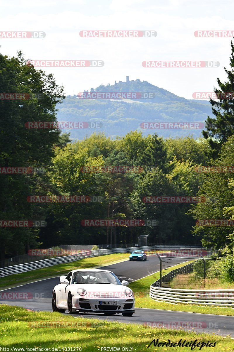
[[[90,258],[90,257],[97,257],[103,256],[105,254],[112,254],[112,253],[130,253],[134,251],[136,247],[129,247],[129,248],[112,248],[112,249],[99,249],[93,251],[82,252],[81,254],[74,254],[71,256],[65,257],[58,257],[58,258],[50,258],[50,259],[43,259],[38,260],[37,262],[32,263],[25,263],[25,264],[18,264],[7,266],[5,268],[0,269],[0,277],[12,275],[12,274],[20,274],[22,272],[46,268],[48,266],[61,264],[61,263],[70,263],[75,262],[76,260],[80,260],[83,258]],[[202,246],[143,246],[137,247],[138,250],[148,250],[148,251],[161,251],[161,250],[206,250],[206,247]]]

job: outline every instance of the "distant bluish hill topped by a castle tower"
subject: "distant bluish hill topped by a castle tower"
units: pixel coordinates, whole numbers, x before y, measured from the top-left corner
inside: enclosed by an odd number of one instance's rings
[[[142,122],[205,122],[207,115],[212,116],[209,101],[187,100],[175,95],[168,90],[153,86],[153,84],[140,80],[119,82],[114,85],[91,88],[90,92],[137,92],[153,93],[152,99],[79,99],[76,95],[68,95],[57,106],[58,121],[85,121],[100,122],[101,128],[65,129],[71,132],[72,139],[82,139],[95,130],[105,132],[107,136],[124,136],[129,131],[139,130],[143,135],[157,132],[159,136],[176,137],[193,134],[201,135],[200,130],[175,130],[175,129],[142,129]],[[85,94],[85,93],[83,93]],[[87,92],[86,92],[87,94]]]

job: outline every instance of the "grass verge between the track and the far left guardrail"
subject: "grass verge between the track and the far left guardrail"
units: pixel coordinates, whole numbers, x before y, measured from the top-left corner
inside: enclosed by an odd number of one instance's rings
[[[17,286],[28,282],[36,281],[39,279],[53,277],[56,275],[59,276],[65,273],[68,274],[68,272],[73,269],[83,269],[90,268],[93,266],[100,266],[108,264],[110,262],[128,258],[128,256],[128,253],[107,254],[105,256],[84,258],[71,263],[62,263],[53,266],[48,266],[47,268],[22,272],[21,274],[13,274],[0,278],[0,288],[4,289],[11,286]]]

